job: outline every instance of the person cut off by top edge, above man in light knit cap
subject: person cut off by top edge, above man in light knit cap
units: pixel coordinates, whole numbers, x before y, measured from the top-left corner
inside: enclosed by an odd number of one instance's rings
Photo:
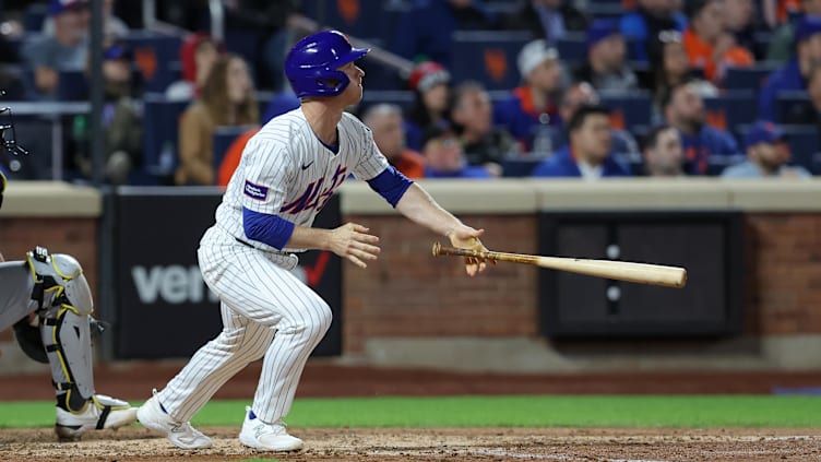
[[[521,7],[504,17],[504,28],[527,31],[549,45],[568,32],[587,28],[590,19],[570,0],[524,0]]]

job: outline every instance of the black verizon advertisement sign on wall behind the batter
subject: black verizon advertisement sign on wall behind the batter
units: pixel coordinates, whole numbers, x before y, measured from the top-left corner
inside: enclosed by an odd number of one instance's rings
[[[202,281],[197,248],[214,223],[218,191],[126,188],[115,200],[116,352],[122,359],[188,357],[222,330],[219,301]],[[334,196],[318,227],[341,224]],[[342,352],[341,260],[330,252],[299,256],[297,277],[333,310],[334,321],[314,355]]]

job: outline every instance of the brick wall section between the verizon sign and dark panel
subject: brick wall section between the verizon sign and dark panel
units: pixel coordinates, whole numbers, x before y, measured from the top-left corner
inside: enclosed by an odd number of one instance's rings
[[[461,216],[485,228],[488,248],[534,253],[534,216]],[[537,332],[536,268],[500,264],[468,277],[462,260],[433,258],[445,239],[394,216],[348,216],[381,238],[382,256],[359,270],[343,263],[343,350],[362,351],[373,336],[521,336]]]

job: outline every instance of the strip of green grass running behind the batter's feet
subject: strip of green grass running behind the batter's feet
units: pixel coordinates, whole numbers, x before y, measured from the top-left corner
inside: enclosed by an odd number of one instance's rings
[[[140,404],[140,403],[132,403]],[[200,426],[238,426],[246,401],[213,401]],[[818,427],[821,398],[583,395],[302,399],[293,427]],[[53,425],[50,402],[0,402],[0,428]]]

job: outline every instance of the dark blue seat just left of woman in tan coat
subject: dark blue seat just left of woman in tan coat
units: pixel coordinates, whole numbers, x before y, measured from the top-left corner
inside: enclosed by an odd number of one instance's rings
[[[179,156],[179,118],[190,103],[167,100],[163,94],[143,96],[143,169],[156,177],[174,175]]]

